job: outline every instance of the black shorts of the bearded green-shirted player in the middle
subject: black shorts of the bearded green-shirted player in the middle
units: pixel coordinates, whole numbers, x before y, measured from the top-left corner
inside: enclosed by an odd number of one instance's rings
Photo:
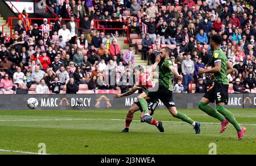
[[[147,97],[150,99],[160,99],[166,107],[175,107],[174,99],[172,99],[172,91],[163,85],[159,85],[156,92],[147,92]]]

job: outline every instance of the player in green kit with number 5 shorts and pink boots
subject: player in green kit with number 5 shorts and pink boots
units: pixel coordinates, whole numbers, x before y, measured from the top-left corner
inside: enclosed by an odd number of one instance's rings
[[[232,123],[237,130],[238,140],[243,139],[246,128],[241,127],[237,123],[234,115],[225,108],[225,105],[228,104],[228,88],[229,81],[227,74],[233,72],[233,67],[229,63],[225,53],[220,49],[221,36],[213,35],[210,39],[210,48],[212,48],[212,69],[203,69],[199,68],[199,73],[213,73],[214,74],[214,86],[205,93],[204,97],[199,103],[199,109],[207,113],[213,118],[218,119],[221,122],[220,132],[224,132],[229,123]],[[217,111],[209,106],[210,102],[216,101]]]

